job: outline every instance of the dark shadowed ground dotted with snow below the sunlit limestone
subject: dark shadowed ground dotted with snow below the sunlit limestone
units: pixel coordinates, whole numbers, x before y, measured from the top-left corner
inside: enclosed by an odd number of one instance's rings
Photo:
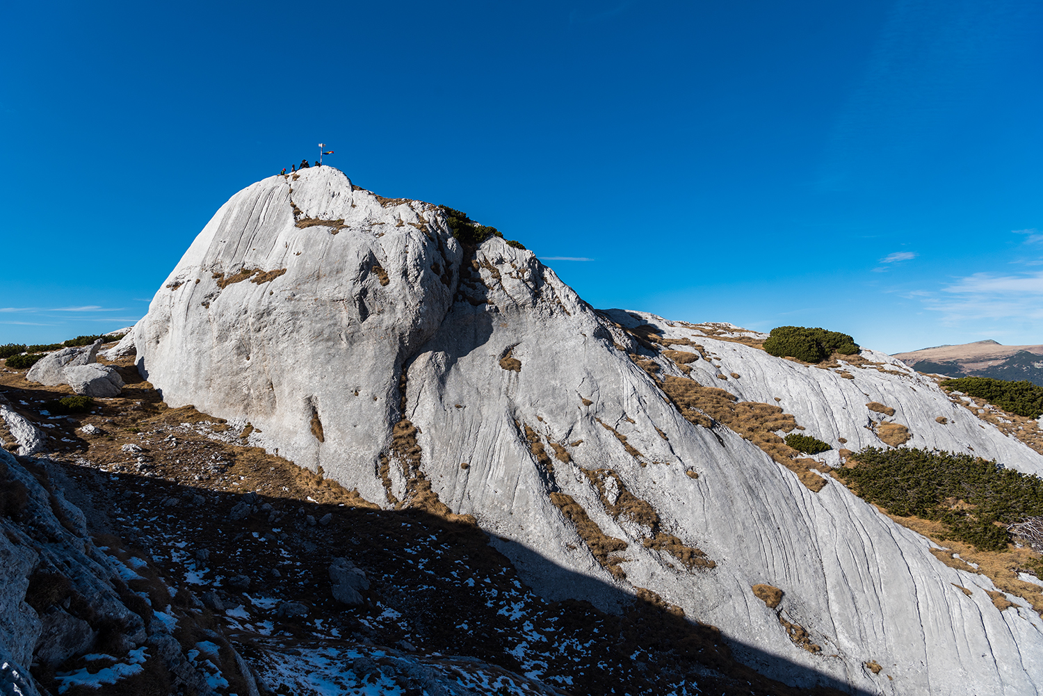
[[[79,488],[77,502],[93,508],[93,531],[122,536],[162,569],[169,584],[203,597],[262,674],[266,654],[379,645],[429,663],[450,659],[443,655],[477,658],[575,694],[693,693],[693,682],[707,693],[841,693],[827,685],[864,693],[751,646],[733,646],[787,680],[821,685],[785,687],[736,661],[717,628],[607,583],[602,592],[613,596],[620,615],[583,601],[545,601],[520,582],[485,532],[420,510],[64,469]],[[553,566],[530,553],[533,562]],[[333,596],[329,568],[338,557],[369,579],[361,605]],[[565,582],[598,582],[555,568]],[[287,610],[287,602],[304,608]],[[399,676],[406,693],[420,693],[412,691],[419,682]],[[267,693],[309,693],[290,681],[267,683]]]

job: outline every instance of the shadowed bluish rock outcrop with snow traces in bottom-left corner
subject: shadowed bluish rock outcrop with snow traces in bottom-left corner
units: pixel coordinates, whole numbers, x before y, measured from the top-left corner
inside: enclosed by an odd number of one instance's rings
[[[83,512],[56,483],[64,475],[52,466],[0,450],[0,694],[64,693],[74,683],[98,689],[112,683],[106,679],[148,681],[160,674],[175,688],[214,694],[170,637],[172,626],[191,625],[194,615],[155,604],[175,593],[148,561],[116,548],[119,539],[95,546]],[[154,583],[147,593],[128,589],[146,576]],[[79,667],[76,661],[91,652],[98,654]],[[30,665],[43,670],[47,692]]]

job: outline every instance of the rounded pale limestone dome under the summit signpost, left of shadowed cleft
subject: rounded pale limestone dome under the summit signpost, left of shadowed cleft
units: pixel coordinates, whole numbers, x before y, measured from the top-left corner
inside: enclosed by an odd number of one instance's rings
[[[371,469],[397,419],[402,363],[453,302],[462,250],[434,210],[353,190],[331,167],[254,184],[137,325],[142,374],[167,403],[249,421],[301,464]],[[372,477],[365,489],[383,490]]]

